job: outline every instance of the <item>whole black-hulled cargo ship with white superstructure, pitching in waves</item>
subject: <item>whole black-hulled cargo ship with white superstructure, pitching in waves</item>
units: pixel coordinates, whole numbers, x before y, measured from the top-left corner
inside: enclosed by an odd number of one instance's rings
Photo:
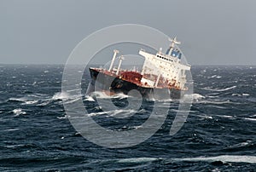
[[[131,90],[135,89],[145,99],[155,98],[159,95],[155,94],[156,92],[168,94],[171,99],[180,99],[183,97],[183,92],[188,90],[186,71],[190,70],[190,65],[182,63],[183,53],[177,47],[180,43],[177,38],[174,37],[170,41],[171,44],[166,53],[162,52],[162,48],[156,54],[140,49],[139,54],[144,58],[140,71],[122,69],[124,60],[122,55],[119,56],[118,67],[113,67],[117,54],[119,54],[119,50],[114,49],[108,69],[89,68],[91,81],[87,95],[96,90],[107,95],[128,95]]]

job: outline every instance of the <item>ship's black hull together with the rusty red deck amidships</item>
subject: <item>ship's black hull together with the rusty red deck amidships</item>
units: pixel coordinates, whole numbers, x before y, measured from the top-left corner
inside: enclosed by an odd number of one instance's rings
[[[90,85],[87,91],[87,95],[90,95],[94,91],[102,91],[107,95],[116,95],[128,93],[135,89],[144,99],[165,99],[166,95],[170,95],[171,99],[180,99],[182,97],[182,91],[180,89],[170,88],[153,88],[148,85],[140,83],[143,77],[138,72],[123,71],[119,75],[114,72],[108,72],[106,70],[98,68],[90,68]],[[156,94],[157,92],[157,94]],[[135,92],[136,93],[136,92]],[[130,94],[130,93],[129,93]],[[161,97],[160,95],[163,95]],[[132,95],[137,96],[137,94]]]

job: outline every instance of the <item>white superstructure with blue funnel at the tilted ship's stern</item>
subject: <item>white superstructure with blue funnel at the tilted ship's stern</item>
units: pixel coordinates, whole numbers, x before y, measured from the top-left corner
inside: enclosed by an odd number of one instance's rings
[[[139,51],[139,54],[145,58],[142,75],[158,76],[156,80],[143,77],[142,83],[157,87],[159,79],[162,77],[168,84],[184,89],[186,83],[185,71],[189,71],[190,66],[181,63],[183,54],[175,45],[179,43],[176,37],[171,41],[171,46],[167,49],[166,54],[161,52],[161,48],[156,54],[149,54],[143,49]]]

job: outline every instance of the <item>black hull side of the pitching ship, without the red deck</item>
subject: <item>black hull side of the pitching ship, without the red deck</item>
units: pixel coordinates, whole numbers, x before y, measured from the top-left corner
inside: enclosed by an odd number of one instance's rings
[[[91,81],[87,89],[86,95],[94,91],[107,91],[110,95],[122,93],[128,95],[132,89],[136,89],[142,96],[143,99],[180,99],[181,90],[177,89],[153,89],[140,87],[135,83],[131,83],[120,79],[119,77],[113,77],[102,72],[98,72],[95,69],[90,68]],[[131,96],[138,96],[136,93]]]

